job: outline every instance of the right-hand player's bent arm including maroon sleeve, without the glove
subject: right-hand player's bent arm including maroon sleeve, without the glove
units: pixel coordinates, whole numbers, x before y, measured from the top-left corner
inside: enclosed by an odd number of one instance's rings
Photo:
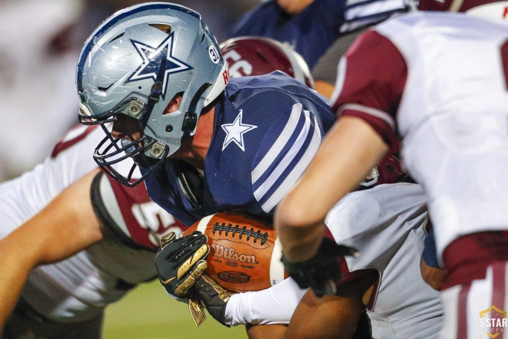
[[[386,52],[390,63],[376,59],[372,50]],[[397,140],[394,117],[407,67],[393,43],[368,31],[346,52],[337,69],[333,107],[341,117],[275,212],[274,226],[284,256],[291,261],[307,260],[317,252],[328,210],[357,187]]]

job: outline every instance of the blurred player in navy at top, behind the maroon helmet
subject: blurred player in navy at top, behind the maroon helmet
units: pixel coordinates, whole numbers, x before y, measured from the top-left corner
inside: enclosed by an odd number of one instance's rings
[[[414,7],[411,0],[270,0],[245,14],[230,36],[269,37],[291,46],[307,62],[317,91],[330,98],[342,51],[328,50],[349,46],[361,28]]]

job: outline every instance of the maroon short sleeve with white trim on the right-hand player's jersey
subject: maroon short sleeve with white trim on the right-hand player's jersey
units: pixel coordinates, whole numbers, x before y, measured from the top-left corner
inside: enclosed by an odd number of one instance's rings
[[[403,56],[389,39],[368,30],[340,62],[333,110],[361,117],[391,145],[398,139],[396,113],[407,78]]]

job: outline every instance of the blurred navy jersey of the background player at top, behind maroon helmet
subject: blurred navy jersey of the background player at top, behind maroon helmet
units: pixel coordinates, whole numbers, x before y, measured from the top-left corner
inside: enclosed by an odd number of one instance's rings
[[[270,0],[245,14],[230,36],[262,36],[288,43],[312,69],[341,35],[405,10],[404,0],[314,0],[302,12],[289,15]]]

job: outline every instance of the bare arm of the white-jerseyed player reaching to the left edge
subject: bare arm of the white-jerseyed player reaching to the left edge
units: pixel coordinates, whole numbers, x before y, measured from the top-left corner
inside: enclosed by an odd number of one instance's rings
[[[65,259],[103,238],[90,201],[94,170],[63,190],[33,218],[0,241],[0,328],[31,269]]]

